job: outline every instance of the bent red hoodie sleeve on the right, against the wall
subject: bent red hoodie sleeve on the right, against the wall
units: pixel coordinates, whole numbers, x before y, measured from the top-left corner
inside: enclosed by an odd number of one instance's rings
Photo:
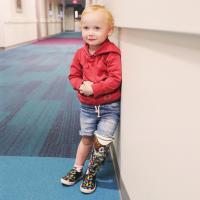
[[[92,85],[94,97],[114,92],[121,86],[122,70],[121,56],[117,53],[110,53],[107,57],[108,78]]]

